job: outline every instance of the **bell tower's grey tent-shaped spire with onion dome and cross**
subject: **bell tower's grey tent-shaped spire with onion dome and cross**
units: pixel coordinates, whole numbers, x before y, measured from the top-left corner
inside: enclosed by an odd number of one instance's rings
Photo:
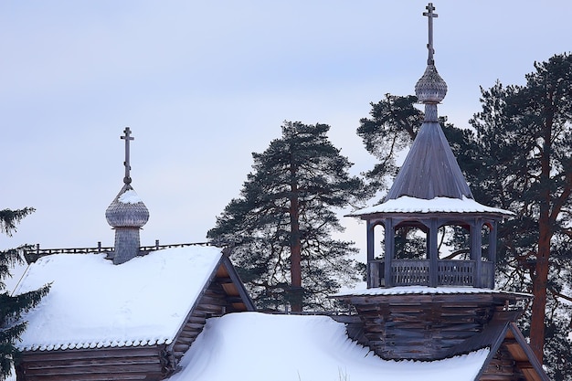
[[[426,6],[423,16],[429,19],[429,43],[427,48],[427,69],[415,85],[415,94],[425,104],[425,120],[421,125],[415,142],[411,146],[405,163],[397,174],[394,184],[389,189],[386,201],[400,196],[411,196],[424,199],[435,197],[473,198],[471,189],[450,145],[442,132],[437,114],[437,104],[447,94],[447,83],[440,77],[435,68],[433,55],[433,18],[435,7],[432,3]]]

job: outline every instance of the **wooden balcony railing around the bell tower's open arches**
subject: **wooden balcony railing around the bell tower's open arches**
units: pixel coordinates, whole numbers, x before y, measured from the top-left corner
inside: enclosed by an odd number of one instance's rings
[[[480,269],[477,269],[480,266]],[[390,278],[386,280],[385,261],[368,263],[368,288],[396,286],[471,286],[494,288],[494,262],[440,259],[432,270],[429,259],[393,259]],[[480,273],[480,275],[478,275]],[[432,281],[433,280],[433,281]]]

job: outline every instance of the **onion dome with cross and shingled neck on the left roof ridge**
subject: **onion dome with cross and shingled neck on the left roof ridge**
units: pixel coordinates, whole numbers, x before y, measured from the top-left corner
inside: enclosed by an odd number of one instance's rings
[[[126,127],[121,136],[125,140],[125,176],[119,194],[105,211],[108,224],[115,229],[115,245],[113,263],[118,265],[139,255],[139,230],[149,219],[149,210],[131,185],[130,142],[133,140],[131,130]]]

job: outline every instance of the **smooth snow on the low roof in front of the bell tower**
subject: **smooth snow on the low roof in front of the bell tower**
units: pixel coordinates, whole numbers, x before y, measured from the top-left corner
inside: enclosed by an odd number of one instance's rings
[[[488,349],[434,362],[387,361],[327,316],[229,313],[207,326],[169,381],[473,380]]]

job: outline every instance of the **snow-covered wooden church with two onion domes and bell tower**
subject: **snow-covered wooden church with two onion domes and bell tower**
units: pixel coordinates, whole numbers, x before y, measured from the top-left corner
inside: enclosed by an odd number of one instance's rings
[[[418,100],[425,104],[425,121],[384,202],[352,214],[366,222],[367,288],[332,296],[355,307],[353,314],[333,313],[335,321],[345,324],[345,329],[341,326],[341,346],[354,352],[359,347],[360,354],[373,352],[381,357],[383,360],[376,356],[367,359],[376,369],[376,378],[386,375],[384,366],[398,376],[399,369],[409,369],[412,363],[435,363],[443,367],[430,379],[448,379],[446,364],[451,363],[447,361],[485,350],[488,355],[476,365],[476,376],[463,380],[548,380],[514,323],[522,313],[518,303],[530,295],[494,289],[497,224],[512,213],[474,200],[438,122],[438,104],[447,85],[433,59],[432,22],[437,15],[432,4],[427,9],[429,59],[415,87]],[[260,343],[248,343],[257,350],[263,348],[268,358],[252,357],[241,349],[220,356],[217,354],[223,353],[225,346],[238,344],[241,348],[246,343],[222,340],[229,333],[218,332],[217,323],[210,331],[205,329],[209,322],[232,315],[244,318],[245,330],[252,329],[254,322],[266,322],[270,316],[253,312],[254,305],[226,253],[203,245],[141,246],[140,229],[149,211],[131,184],[129,128],[122,139],[123,185],[105,214],[115,230],[114,247],[85,254],[60,250],[63,252],[29,257],[35,262],[26,270],[16,293],[49,282],[52,289],[40,306],[26,315],[28,328],[19,344],[22,357],[16,366],[17,380],[222,381],[228,376],[198,375],[204,375],[207,368],[222,369],[229,362],[239,364],[232,368],[232,379],[273,379],[253,376],[253,372],[261,363],[292,355],[281,352],[288,348],[284,343],[288,334],[281,336],[281,343],[268,335]],[[440,252],[443,228],[465,232],[467,248],[461,256]],[[376,255],[375,233],[382,229],[385,246],[383,253]],[[423,238],[420,252],[408,252],[397,239],[410,232]],[[300,326],[288,325],[294,321],[311,321],[309,332],[318,327],[312,324],[340,327],[324,316],[281,316],[272,320],[276,326],[270,327],[269,334],[281,333],[286,326]],[[201,346],[207,339],[199,339],[206,332],[222,339]],[[327,346],[316,346],[319,349],[312,355],[327,351]],[[188,354],[195,357],[185,361]],[[364,356],[359,356],[363,360]],[[196,358],[207,360],[193,366]],[[334,358],[339,361],[337,366],[344,366],[344,355],[320,358]],[[298,378],[279,378],[291,370],[289,366],[296,370],[296,364],[287,365],[274,369],[275,379],[300,378],[300,373]],[[321,366],[325,365],[312,364]],[[416,379],[425,379],[419,378],[424,377],[422,372],[417,375]],[[320,381],[318,378],[332,379],[322,375],[312,380]]]

